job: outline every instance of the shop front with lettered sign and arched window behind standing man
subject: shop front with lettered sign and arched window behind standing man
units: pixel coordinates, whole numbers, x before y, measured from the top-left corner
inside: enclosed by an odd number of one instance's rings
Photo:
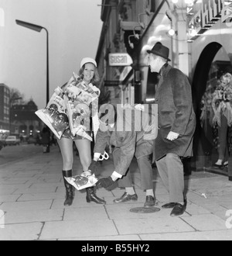
[[[193,165],[196,171],[220,172],[229,177],[232,176],[230,172],[228,174],[232,148],[230,4],[230,1],[201,4],[189,22],[189,80],[193,86],[197,118]],[[193,29],[196,29],[195,33]],[[227,85],[223,81],[225,75]]]

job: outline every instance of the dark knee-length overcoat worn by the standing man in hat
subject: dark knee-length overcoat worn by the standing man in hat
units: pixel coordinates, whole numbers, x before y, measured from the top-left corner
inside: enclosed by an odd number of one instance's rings
[[[155,160],[168,153],[179,157],[193,155],[193,133],[196,116],[193,111],[189,81],[182,71],[165,65],[155,92],[158,104],[158,136],[155,139]],[[167,140],[169,132],[179,133],[176,140]]]

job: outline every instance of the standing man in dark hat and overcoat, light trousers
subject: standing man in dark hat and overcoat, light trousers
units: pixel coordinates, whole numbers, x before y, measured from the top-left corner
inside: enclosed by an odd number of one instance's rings
[[[169,203],[162,207],[171,208],[171,216],[179,216],[185,212],[187,204],[182,158],[193,155],[196,127],[191,86],[182,71],[168,64],[169,48],[155,43],[147,52],[148,66],[160,77],[155,90],[158,105],[155,163],[169,192]]]

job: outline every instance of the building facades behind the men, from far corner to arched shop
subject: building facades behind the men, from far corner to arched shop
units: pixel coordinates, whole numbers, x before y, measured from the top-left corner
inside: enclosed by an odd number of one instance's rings
[[[111,92],[111,103],[154,102],[158,78],[149,71],[146,51],[158,41],[169,47],[170,64],[186,74],[193,88],[195,170],[210,167],[217,157],[213,129],[200,120],[201,104],[220,74],[232,72],[231,6],[226,0],[102,0],[96,56],[101,88]],[[112,66],[112,54],[128,54],[132,64]]]

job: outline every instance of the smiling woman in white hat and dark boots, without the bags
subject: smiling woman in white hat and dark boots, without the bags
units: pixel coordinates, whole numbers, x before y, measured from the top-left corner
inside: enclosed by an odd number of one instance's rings
[[[90,85],[90,83],[92,85],[97,85],[97,82],[100,79],[97,71],[96,61],[90,57],[84,57],[84,59],[80,61],[79,76],[86,85]],[[72,205],[74,199],[73,185],[70,185],[64,178],[73,176],[73,142],[77,146],[83,171],[87,171],[91,163],[90,140],[78,135],[73,137],[72,133],[70,133],[70,129],[67,129],[63,133],[61,139],[57,139],[63,159],[63,182],[66,188],[66,200],[64,202],[64,206]],[[100,204],[105,203],[103,199],[97,197],[94,187],[87,189],[87,202],[96,202]]]

